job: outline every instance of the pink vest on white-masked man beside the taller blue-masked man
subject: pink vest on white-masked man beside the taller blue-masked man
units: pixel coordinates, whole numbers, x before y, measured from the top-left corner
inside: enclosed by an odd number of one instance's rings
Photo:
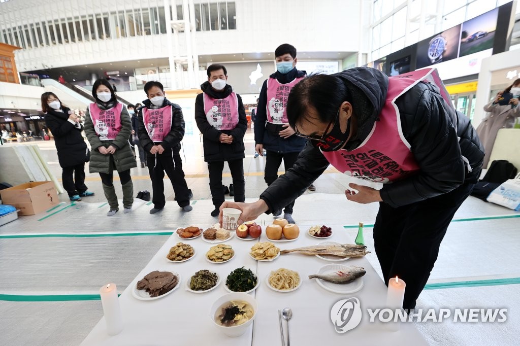
[[[225,99],[214,99],[204,92],[207,122],[217,130],[232,130],[238,125],[238,98],[231,92]]]

